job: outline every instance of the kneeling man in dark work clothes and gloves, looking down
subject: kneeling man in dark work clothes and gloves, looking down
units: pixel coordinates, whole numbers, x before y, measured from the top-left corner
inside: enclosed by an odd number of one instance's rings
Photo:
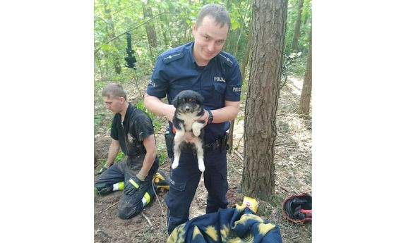
[[[155,197],[152,181],[159,162],[154,127],[147,113],[127,102],[121,85],[107,85],[102,97],[115,115],[109,155],[95,188],[100,194],[124,189],[118,205],[119,217],[128,219]],[[120,148],[126,156],[121,163],[114,163]]]

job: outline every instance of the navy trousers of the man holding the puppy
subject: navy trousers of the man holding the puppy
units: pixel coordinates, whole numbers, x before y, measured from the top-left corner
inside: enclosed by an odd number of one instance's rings
[[[219,208],[227,208],[227,156],[226,150],[205,152],[204,185],[208,190],[206,213],[213,213]],[[201,171],[195,154],[181,152],[179,166],[170,171],[170,185],[165,203],[167,204],[168,233],[177,225],[189,220],[189,207],[195,196]]]

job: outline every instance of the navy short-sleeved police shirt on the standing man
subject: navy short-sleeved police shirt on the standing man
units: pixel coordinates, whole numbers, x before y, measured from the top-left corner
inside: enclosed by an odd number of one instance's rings
[[[203,95],[204,108],[215,110],[225,106],[225,101],[239,101],[241,73],[237,59],[220,51],[207,66],[197,65],[192,55],[194,42],[165,51],[158,56],[147,94],[159,99],[167,96],[169,104],[182,90],[191,89]],[[205,126],[205,143],[224,135],[229,122]]]

